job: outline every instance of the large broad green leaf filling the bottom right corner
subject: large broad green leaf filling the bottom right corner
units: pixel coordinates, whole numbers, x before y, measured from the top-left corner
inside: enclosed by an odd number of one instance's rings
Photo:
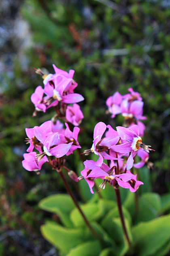
[[[155,256],[170,243],[170,215],[139,223],[132,229],[132,235],[136,255]]]

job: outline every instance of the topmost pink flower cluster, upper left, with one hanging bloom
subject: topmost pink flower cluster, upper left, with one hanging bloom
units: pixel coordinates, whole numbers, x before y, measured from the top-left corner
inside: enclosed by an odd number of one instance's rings
[[[58,106],[55,109],[58,116],[64,117],[65,121],[69,121],[74,126],[79,126],[84,116],[76,103],[84,98],[79,93],[74,93],[78,85],[73,80],[74,70],[71,69],[68,73],[55,65],[53,68],[55,74],[48,75],[44,75],[40,69],[37,70],[37,73],[41,74],[44,79],[44,88],[38,86],[31,95],[31,101],[35,105],[33,115],[35,116],[37,111],[46,112],[48,108]],[[68,106],[68,104],[73,104],[73,106]]]

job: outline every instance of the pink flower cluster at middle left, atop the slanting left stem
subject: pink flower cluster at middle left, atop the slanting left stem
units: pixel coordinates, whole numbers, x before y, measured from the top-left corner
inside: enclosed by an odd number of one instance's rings
[[[52,121],[46,121],[40,126],[26,128],[29,145],[22,161],[23,167],[28,171],[39,171],[45,162],[49,162],[48,157],[61,158],[64,155],[70,155],[77,148],[81,148],[78,142],[80,128],[74,127],[73,132],[66,123],[66,129],[60,121],[53,124]],[[33,152],[34,148],[38,151]]]

